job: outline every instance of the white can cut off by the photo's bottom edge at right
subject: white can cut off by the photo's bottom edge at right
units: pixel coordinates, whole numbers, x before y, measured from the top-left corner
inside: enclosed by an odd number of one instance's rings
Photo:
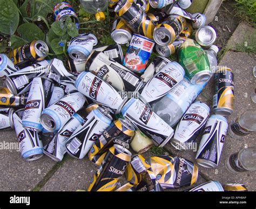
[[[185,190],[186,192],[223,192],[223,187],[217,181],[211,180],[192,189]]]

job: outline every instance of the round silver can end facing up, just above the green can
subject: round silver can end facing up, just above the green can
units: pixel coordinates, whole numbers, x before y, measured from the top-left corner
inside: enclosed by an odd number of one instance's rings
[[[199,27],[194,36],[197,43],[205,48],[212,46],[217,38],[216,31],[208,25]]]

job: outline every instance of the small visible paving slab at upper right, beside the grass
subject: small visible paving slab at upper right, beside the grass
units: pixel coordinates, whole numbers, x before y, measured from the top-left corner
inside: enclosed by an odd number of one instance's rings
[[[249,44],[248,41],[250,40],[247,40],[247,38],[250,36],[254,36],[256,38],[256,29],[247,25],[245,22],[241,22],[237,29],[235,29],[231,38],[228,40],[227,47],[235,49],[235,46],[238,44],[246,44],[245,41]]]

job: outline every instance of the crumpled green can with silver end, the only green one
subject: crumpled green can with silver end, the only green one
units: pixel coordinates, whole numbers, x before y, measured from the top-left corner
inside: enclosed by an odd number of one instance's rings
[[[191,83],[201,85],[211,79],[212,71],[207,54],[193,39],[187,39],[180,46],[178,59]]]

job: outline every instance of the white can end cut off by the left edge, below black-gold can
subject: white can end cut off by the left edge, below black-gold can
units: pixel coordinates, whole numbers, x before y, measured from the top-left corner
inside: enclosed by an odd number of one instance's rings
[[[13,108],[0,108],[0,130],[9,130],[14,128],[14,122],[12,120],[13,114]]]

